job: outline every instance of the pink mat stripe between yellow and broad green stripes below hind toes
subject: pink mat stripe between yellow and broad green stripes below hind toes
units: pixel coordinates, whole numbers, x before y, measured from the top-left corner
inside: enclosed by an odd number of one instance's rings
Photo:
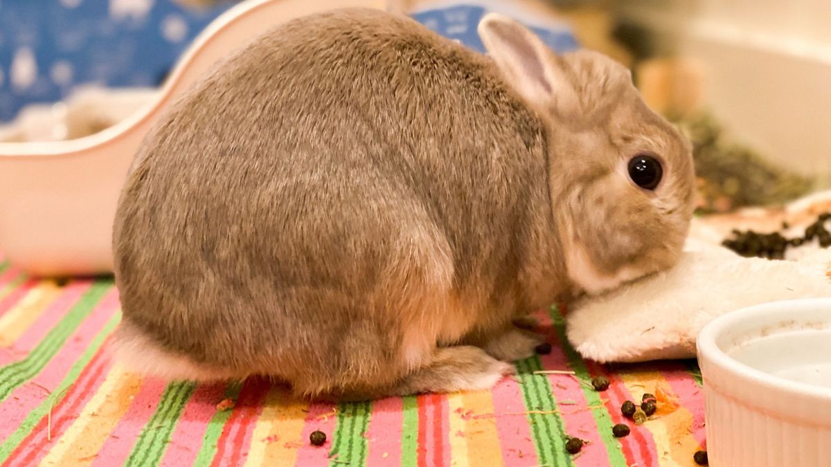
[[[502,462],[505,467],[538,465],[537,450],[531,439],[528,417],[522,390],[513,378],[505,378],[493,389],[496,432],[502,445]],[[512,414],[512,415],[504,415]]]

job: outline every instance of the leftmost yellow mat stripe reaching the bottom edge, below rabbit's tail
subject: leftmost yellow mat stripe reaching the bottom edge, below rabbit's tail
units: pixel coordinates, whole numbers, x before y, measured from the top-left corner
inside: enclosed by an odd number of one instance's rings
[[[40,465],[90,465],[101,446],[130,409],[141,378],[114,366],[78,418],[52,447]]]

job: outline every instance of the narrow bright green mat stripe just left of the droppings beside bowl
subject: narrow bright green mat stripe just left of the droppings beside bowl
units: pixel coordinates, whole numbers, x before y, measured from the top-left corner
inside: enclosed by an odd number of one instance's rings
[[[583,358],[568,342],[563,315],[557,307],[551,307],[549,314],[551,315],[554,330],[557,332],[557,337],[560,340],[560,347],[563,348],[563,352],[568,358],[568,366],[571,367],[578,378],[583,381],[591,380],[592,376],[589,374]],[[612,435],[612,426],[614,423],[612,423],[612,417],[609,415],[608,410],[605,410],[606,404],[601,400],[602,393],[594,391],[586,385],[580,385],[580,388],[583,390],[583,395],[586,396],[586,401],[589,406],[601,406],[604,408],[604,410],[591,410],[591,412],[594,417],[594,422],[597,424],[598,435],[600,435],[603,445],[606,446],[606,452],[609,455],[609,465],[612,467],[617,467],[618,465],[626,467],[626,457],[623,455],[617,439]]]

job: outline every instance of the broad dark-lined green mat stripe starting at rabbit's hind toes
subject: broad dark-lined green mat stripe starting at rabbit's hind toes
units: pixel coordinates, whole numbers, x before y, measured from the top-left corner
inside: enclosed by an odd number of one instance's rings
[[[534,375],[534,371],[543,369],[539,357],[518,361],[516,366],[526,410],[557,410],[548,378]],[[528,419],[539,464],[571,465],[571,456],[565,450],[566,432],[562,417],[558,414],[529,413]]]

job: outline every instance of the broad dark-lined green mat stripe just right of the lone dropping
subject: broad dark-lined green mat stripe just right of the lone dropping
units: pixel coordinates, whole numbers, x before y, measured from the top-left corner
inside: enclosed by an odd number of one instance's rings
[[[369,426],[371,402],[341,404],[337,414],[337,425],[332,437],[330,465],[338,467],[343,462],[349,465],[366,463],[366,429]],[[337,457],[336,457],[337,455]]]

